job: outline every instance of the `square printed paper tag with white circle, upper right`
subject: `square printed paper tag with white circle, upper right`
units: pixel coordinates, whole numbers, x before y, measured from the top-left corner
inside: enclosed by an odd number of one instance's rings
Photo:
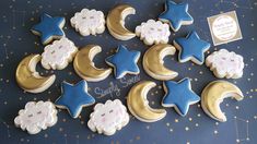
[[[243,38],[235,11],[210,16],[207,20],[214,46]]]

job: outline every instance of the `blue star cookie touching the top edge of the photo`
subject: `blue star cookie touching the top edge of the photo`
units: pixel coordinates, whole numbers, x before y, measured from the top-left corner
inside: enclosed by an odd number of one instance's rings
[[[194,19],[188,13],[188,3],[175,3],[166,0],[165,11],[159,15],[159,20],[168,23],[174,32],[177,32],[182,25],[190,25]]]

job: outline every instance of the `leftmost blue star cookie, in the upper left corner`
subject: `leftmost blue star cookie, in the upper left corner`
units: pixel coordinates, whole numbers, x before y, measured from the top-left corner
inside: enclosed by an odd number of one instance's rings
[[[60,39],[66,36],[62,27],[65,26],[65,17],[51,17],[44,13],[40,16],[40,23],[32,27],[32,33],[40,36],[43,45],[49,44],[54,39]]]

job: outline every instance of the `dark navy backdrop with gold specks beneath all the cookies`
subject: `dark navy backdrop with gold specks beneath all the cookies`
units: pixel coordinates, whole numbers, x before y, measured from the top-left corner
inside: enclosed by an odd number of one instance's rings
[[[176,0],[177,1],[177,0]],[[178,1],[177,1],[178,2]],[[1,143],[175,143],[175,144],[233,144],[233,143],[257,143],[257,0],[188,0],[189,12],[195,19],[190,26],[183,26],[182,29],[170,37],[186,36],[191,29],[196,29],[202,39],[210,43],[211,36],[207,17],[236,10],[241,24],[243,39],[218,47],[211,47],[211,51],[226,48],[244,56],[244,76],[238,80],[229,80],[242,88],[245,98],[243,101],[225,99],[221,105],[227,117],[227,122],[220,123],[205,115],[200,105],[190,107],[186,117],[179,117],[173,108],[166,108],[167,116],[154,123],[143,123],[131,117],[130,122],[121,131],[113,136],[98,135],[87,129],[86,122],[93,107],[84,108],[79,119],[72,119],[66,110],[58,112],[58,123],[37,135],[30,135],[21,129],[16,129],[13,119],[17,111],[24,108],[30,100],[55,101],[60,95],[60,82],[79,82],[81,79],[74,73],[72,64],[62,71],[46,71],[40,64],[37,71],[46,75],[55,73],[57,81],[42,94],[24,93],[17,87],[14,73],[19,62],[30,53],[42,53],[43,46],[39,38],[30,32],[32,25],[38,23],[40,13],[46,12],[52,16],[65,16],[67,20],[65,32],[67,37],[74,44],[82,47],[87,44],[102,46],[103,52],[94,59],[97,67],[107,68],[104,58],[112,55],[118,44],[126,45],[130,49],[147,50],[139,38],[127,41],[119,41],[113,38],[108,31],[103,35],[82,37],[69,23],[69,20],[83,8],[102,10],[105,15],[117,3],[129,3],[137,10],[136,15],[126,20],[129,29],[149,19],[156,16],[164,9],[164,0],[2,0],[0,2],[0,140]],[[125,97],[139,80],[152,80],[148,76],[140,59],[140,75],[127,75],[122,80],[115,80],[112,76],[98,83],[89,83],[90,94],[97,103],[106,99],[119,98],[125,103]],[[189,76],[192,81],[192,89],[200,95],[202,88],[211,81],[217,80],[206,65],[195,65],[191,62],[178,63],[177,53],[165,58],[165,65],[176,70],[178,81]],[[153,81],[153,80],[152,80]],[[160,103],[164,95],[162,82],[151,89],[148,95],[151,107],[161,107]]]

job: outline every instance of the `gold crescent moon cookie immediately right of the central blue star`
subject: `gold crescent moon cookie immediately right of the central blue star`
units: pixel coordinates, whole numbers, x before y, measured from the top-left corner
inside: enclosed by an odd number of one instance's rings
[[[176,77],[177,72],[163,65],[163,58],[174,55],[176,49],[172,45],[159,44],[152,46],[143,56],[143,69],[153,79],[167,81]]]

